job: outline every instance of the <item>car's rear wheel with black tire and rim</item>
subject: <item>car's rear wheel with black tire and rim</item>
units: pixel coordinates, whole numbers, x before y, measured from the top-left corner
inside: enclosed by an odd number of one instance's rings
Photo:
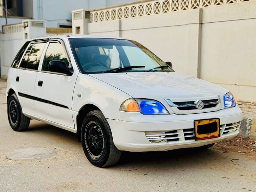
[[[14,131],[25,131],[28,129],[30,118],[22,113],[20,102],[15,93],[8,99],[7,114],[9,124]]]

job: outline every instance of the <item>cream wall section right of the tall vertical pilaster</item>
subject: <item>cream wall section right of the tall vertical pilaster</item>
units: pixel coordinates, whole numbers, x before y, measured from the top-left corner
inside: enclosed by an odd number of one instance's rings
[[[256,102],[256,2],[217,8],[203,13],[201,78]]]

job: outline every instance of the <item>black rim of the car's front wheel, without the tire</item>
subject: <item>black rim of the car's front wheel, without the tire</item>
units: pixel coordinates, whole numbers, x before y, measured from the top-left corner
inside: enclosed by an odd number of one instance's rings
[[[99,158],[104,149],[104,137],[101,127],[95,121],[90,121],[85,128],[84,141],[90,155]]]

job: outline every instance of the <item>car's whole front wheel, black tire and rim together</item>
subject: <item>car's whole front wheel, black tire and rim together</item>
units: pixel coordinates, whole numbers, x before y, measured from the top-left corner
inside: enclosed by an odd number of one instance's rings
[[[122,151],[114,145],[109,124],[100,110],[89,112],[81,129],[84,154],[97,167],[116,164]]]

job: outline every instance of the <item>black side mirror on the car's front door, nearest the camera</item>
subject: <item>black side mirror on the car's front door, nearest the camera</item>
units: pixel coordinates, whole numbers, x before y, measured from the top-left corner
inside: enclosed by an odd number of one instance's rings
[[[73,74],[73,68],[68,68],[64,61],[52,60],[49,62],[48,69],[57,73],[64,73],[66,75]]]

